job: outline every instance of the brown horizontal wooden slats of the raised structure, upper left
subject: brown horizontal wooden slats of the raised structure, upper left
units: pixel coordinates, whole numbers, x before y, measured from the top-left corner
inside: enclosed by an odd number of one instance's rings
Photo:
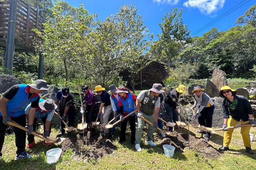
[[[0,1],[0,38],[7,37],[9,6],[9,0]],[[32,29],[43,30],[43,17],[39,15],[38,10],[34,10],[30,4],[22,0],[18,0],[16,16],[15,43],[33,48],[32,40],[38,37]]]

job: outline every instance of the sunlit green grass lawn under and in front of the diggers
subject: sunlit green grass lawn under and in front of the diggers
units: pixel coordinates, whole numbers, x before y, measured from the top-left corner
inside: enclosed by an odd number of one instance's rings
[[[192,132],[196,137],[201,137],[192,127]],[[58,133],[58,129],[52,130],[51,136]],[[119,130],[117,130],[118,132]],[[256,134],[256,128],[252,128],[250,133]],[[113,138],[117,149],[110,155],[100,160],[81,159],[79,156],[68,150],[60,156],[57,163],[47,164],[46,151],[49,149],[60,147],[54,144],[50,147],[42,145],[42,140],[35,137],[36,145],[31,149],[26,149],[32,158],[14,160],[16,146],[14,134],[5,137],[4,147],[2,149],[3,156],[0,159],[0,170],[84,170],[84,169],[163,169],[163,170],[255,170],[256,155],[250,155],[245,152],[242,142],[240,129],[235,129],[230,143],[230,151],[225,152],[218,159],[205,159],[200,154],[196,156],[193,150],[185,149],[183,153],[175,152],[174,157],[168,158],[164,155],[162,145],[151,147],[145,144],[145,133],[142,138],[142,152],[136,152],[134,145],[130,144],[129,136],[127,141],[122,145],[118,143],[118,136]],[[254,138],[255,139],[255,138]],[[154,141],[159,144],[161,141],[159,133],[154,134]],[[213,134],[209,142],[215,148],[222,145],[223,132],[218,131]],[[256,142],[251,142],[252,149],[256,153]]]

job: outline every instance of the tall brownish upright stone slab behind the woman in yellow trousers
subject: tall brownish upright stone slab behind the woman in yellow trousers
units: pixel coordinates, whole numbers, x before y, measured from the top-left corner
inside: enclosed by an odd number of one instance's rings
[[[220,87],[228,85],[226,73],[218,68],[213,70],[212,80],[213,84],[215,84],[219,90]]]

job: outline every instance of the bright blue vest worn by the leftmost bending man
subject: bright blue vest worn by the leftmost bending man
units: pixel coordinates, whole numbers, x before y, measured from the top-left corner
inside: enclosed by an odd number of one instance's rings
[[[28,85],[19,84],[19,89],[11,100],[6,102],[7,115],[9,117],[18,117],[25,114],[27,105],[38,98],[38,94],[33,94],[28,98],[28,93],[25,91]],[[0,112],[0,116],[2,113]]]

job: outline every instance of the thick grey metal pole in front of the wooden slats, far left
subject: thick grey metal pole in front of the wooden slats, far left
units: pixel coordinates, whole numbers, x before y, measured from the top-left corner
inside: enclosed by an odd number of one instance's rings
[[[5,50],[5,67],[10,69],[10,74],[12,75],[13,57],[15,50],[15,29],[16,29],[16,12],[17,12],[17,0],[10,1],[10,11],[9,11],[9,21],[8,21],[8,31],[6,40],[6,50]]]

